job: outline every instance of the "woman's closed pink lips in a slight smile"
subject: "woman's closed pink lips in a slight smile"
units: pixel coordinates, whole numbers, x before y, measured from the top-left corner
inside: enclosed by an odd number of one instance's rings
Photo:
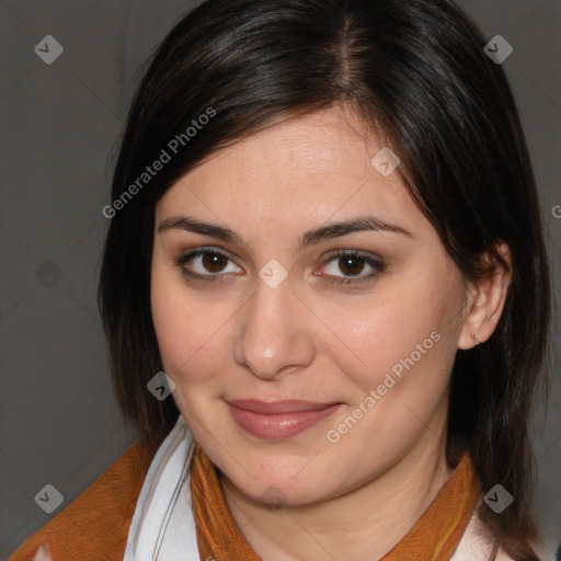
[[[247,433],[267,440],[295,436],[339,410],[342,403],[318,403],[302,400],[264,402],[259,400],[226,401],[236,423]]]

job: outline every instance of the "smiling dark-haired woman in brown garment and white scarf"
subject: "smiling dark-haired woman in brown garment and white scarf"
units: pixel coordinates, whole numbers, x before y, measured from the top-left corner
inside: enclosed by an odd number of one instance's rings
[[[538,559],[548,266],[485,43],[447,0],[209,0],[175,26],[103,209],[142,439],[13,560]]]

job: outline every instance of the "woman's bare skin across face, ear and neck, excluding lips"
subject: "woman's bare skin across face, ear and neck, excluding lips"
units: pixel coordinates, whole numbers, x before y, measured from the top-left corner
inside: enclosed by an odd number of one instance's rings
[[[491,335],[504,304],[506,274],[468,284],[399,173],[385,178],[370,164],[382,146],[344,107],[289,119],[216,152],[156,208],[152,317],[173,399],[225,474],[238,527],[266,561],[371,561],[413,527],[451,473],[445,439],[455,354],[473,346],[471,333],[480,342]],[[299,245],[310,229],[367,215],[410,236],[358,231]],[[244,244],[159,231],[185,216],[229,228]],[[176,263],[203,247],[230,259]],[[337,284],[350,271],[334,250],[381,259],[385,268],[358,259],[353,271],[365,280]],[[259,276],[273,259],[288,273],[276,288]],[[182,267],[225,276],[194,280]],[[432,332],[439,341],[329,442],[328,431]],[[233,422],[225,399],[342,405],[296,436],[264,440]],[[272,485],[280,508],[270,507]]]

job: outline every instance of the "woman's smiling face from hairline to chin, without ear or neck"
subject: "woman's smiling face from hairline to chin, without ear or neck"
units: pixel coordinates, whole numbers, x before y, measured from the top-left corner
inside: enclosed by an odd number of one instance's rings
[[[172,396],[255,501],[323,501],[442,449],[467,291],[398,172],[371,163],[381,148],[323,111],[220,150],[157,205]]]

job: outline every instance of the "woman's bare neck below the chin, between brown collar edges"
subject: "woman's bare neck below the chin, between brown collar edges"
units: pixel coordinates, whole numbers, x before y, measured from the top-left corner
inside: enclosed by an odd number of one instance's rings
[[[228,508],[257,556],[266,561],[380,559],[415,525],[451,469],[445,423],[427,427],[413,449],[381,476],[346,494],[276,511],[243,495],[221,478]]]

